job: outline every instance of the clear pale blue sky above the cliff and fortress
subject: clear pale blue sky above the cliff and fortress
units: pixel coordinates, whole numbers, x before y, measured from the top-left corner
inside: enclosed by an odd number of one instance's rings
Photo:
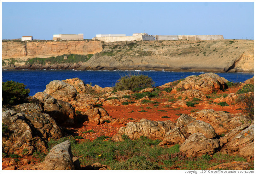
[[[145,32],[152,35],[223,35],[254,39],[254,7],[249,2],[8,2],[1,1],[2,39],[53,34]]]

